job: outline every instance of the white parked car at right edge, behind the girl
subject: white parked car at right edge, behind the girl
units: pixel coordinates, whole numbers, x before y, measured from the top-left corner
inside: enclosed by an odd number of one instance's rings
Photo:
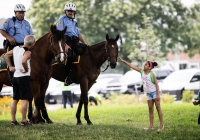
[[[200,69],[185,69],[171,73],[161,85],[162,93],[174,95],[175,100],[181,100],[184,90],[193,90],[197,94],[200,82]]]

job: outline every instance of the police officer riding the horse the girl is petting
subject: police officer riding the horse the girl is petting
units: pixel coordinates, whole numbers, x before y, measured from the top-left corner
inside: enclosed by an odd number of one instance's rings
[[[65,51],[67,52],[67,64],[65,66],[65,85],[70,85],[72,83],[71,78],[69,77],[72,59],[73,59],[73,49],[74,45],[77,41],[81,41],[82,43],[86,44],[86,41],[80,34],[78,29],[77,22],[75,21],[75,13],[76,13],[76,5],[72,2],[68,2],[64,6],[65,15],[60,17],[56,22],[56,26],[58,30],[63,30],[67,27],[65,36],[66,36],[66,46]]]

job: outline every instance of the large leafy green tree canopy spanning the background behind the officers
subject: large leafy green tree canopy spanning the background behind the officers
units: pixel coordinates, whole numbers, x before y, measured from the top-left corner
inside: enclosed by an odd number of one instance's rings
[[[73,2],[77,6],[76,19],[81,34],[87,43],[104,41],[107,33],[113,38],[120,34],[119,55],[127,61],[130,61],[128,58],[130,53],[137,51],[138,47],[135,46],[135,41],[138,40],[137,31],[145,28],[142,23],[142,13],[149,17],[149,24],[156,39],[160,41],[162,53],[166,54],[177,49],[190,52],[191,55],[200,52],[198,5],[188,9],[180,0],[74,0]],[[64,0],[32,0],[32,6],[27,13],[37,38],[48,32],[50,25],[64,14],[65,3]],[[138,61],[136,57],[134,59]],[[124,72],[128,70],[128,67],[120,64],[118,68]]]

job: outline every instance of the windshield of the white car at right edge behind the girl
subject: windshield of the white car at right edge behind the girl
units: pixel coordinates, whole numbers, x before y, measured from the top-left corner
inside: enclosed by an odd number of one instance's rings
[[[174,72],[165,79],[165,82],[185,82],[189,80],[192,74],[193,74],[192,72],[187,72],[187,73]]]

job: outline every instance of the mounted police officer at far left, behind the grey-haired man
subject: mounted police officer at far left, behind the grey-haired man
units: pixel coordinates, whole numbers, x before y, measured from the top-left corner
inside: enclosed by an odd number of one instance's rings
[[[24,19],[26,8],[23,4],[17,4],[14,7],[15,16],[8,18],[0,27],[0,33],[6,38],[4,40],[4,49],[12,50],[15,46],[24,45],[24,38],[32,35],[32,28],[27,20]],[[11,63],[14,65],[13,58]],[[10,79],[13,78],[13,72],[9,70]]]

